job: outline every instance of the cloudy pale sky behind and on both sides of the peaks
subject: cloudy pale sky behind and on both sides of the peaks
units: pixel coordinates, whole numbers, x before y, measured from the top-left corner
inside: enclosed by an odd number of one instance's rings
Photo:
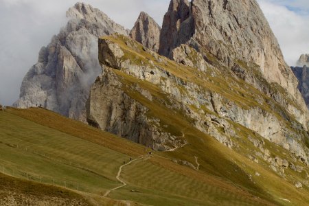
[[[38,51],[66,25],[66,10],[78,0],[0,0],[0,104],[19,98],[25,73]],[[80,0],[81,1],[81,0]],[[233,0],[236,1],[236,0]],[[309,53],[309,1],[258,0],[289,65]],[[145,11],[161,25],[170,0],[84,0],[111,19],[133,27]]]

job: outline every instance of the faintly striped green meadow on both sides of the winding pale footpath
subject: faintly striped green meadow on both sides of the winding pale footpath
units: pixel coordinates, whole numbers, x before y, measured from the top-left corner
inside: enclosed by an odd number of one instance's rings
[[[25,179],[22,172],[28,172],[34,181],[42,176],[43,183],[52,183],[57,176],[56,183],[66,181],[73,190],[74,183],[79,183],[79,190],[102,194],[119,185],[115,180],[117,168],[128,155],[146,153],[142,146],[43,109],[10,108],[0,113],[0,122],[0,164],[5,165],[6,173],[13,169],[14,176]],[[216,141],[211,144],[223,148]],[[177,165],[163,156],[155,152],[151,159],[124,168],[122,179],[128,186],[110,196],[149,205],[229,205],[231,201],[239,205],[271,205],[225,179]],[[201,164],[207,165],[203,161]]]

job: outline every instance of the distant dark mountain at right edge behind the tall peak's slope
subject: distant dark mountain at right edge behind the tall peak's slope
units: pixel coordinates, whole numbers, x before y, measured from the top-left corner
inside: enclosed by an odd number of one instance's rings
[[[302,54],[297,61],[297,67],[291,67],[291,69],[299,81],[297,88],[301,92],[301,95],[303,95],[309,108],[309,55]]]

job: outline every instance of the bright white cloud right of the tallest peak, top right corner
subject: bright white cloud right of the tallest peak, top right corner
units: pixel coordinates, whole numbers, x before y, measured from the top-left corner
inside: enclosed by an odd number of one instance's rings
[[[288,65],[296,65],[301,54],[309,53],[309,1],[260,0],[260,6],[277,37]],[[289,10],[293,6],[293,10]],[[298,9],[297,9],[298,8]],[[292,9],[292,8],[290,8]]]

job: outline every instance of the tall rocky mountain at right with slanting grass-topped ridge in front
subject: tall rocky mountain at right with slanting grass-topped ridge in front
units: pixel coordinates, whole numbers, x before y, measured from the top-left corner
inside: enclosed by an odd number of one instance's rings
[[[229,147],[237,133],[232,125],[238,124],[307,163],[308,109],[258,3],[173,0],[160,38],[159,53],[172,52],[167,56],[183,66],[141,52],[122,36],[100,39],[99,60],[106,72],[91,87],[89,124],[170,150],[187,139],[151,106],[161,105]]]

